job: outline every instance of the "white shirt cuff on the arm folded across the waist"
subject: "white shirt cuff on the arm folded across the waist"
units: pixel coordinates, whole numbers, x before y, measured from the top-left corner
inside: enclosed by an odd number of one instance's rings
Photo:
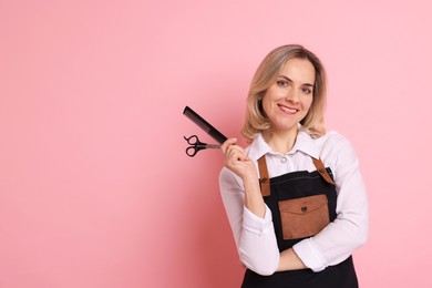
[[[326,269],[326,259],[321,253],[315,247],[313,241],[308,238],[292,246],[294,251],[301,261],[315,272]]]

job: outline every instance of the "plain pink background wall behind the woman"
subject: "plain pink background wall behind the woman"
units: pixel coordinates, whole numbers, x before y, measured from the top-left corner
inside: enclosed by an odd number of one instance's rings
[[[154,3],[151,3],[154,2]],[[362,287],[432,287],[430,1],[0,0],[0,287],[238,287],[222,156],[255,69],[301,43],[367,182]]]

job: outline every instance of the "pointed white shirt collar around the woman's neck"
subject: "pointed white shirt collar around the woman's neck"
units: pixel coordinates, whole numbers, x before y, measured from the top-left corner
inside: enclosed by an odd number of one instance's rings
[[[315,140],[305,131],[299,131],[297,134],[296,142],[291,148],[287,153],[287,155],[292,155],[297,152],[302,152],[313,158],[319,158],[319,148]],[[271,150],[271,147],[264,140],[261,133],[257,133],[253,143],[249,146],[248,155],[251,161],[258,161],[263,155],[270,154],[279,154]]]

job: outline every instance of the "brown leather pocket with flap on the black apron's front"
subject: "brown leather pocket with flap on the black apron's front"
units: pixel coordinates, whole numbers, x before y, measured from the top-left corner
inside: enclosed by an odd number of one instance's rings
[[[325,194],[279,202],[284,239],[310,237],[329,223],[328,199]]]

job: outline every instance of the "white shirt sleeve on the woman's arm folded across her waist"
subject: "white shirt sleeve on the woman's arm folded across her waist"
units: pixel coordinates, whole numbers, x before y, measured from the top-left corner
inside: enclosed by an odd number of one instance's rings
[[[327,145],[327,144],[326,144]],[[316,236],[292,249],[313,271],[347,259],[368,238],[368,198],[357,155],[343,136],[335,134],[322,151],[337,184],[337,218]]]

